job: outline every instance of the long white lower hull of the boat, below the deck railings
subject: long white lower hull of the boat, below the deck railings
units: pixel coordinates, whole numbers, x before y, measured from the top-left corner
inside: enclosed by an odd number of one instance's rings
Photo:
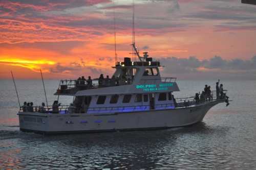
[[[223,101],[169,110],[115,114],[47,114],[19,112],[19,128],[38,133],[75,133],[172,128],[201,122],[207,111]]]

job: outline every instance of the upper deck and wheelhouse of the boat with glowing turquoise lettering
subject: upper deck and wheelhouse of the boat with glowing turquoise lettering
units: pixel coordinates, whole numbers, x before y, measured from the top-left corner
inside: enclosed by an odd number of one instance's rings
[[[111,78],[101,75],[97,79],[60,80],[55,95],[179,91],[176,78],[161,77],[159,67],[160,62],[152,58],[134,62],[124,58],[113,66],[116,71]]]

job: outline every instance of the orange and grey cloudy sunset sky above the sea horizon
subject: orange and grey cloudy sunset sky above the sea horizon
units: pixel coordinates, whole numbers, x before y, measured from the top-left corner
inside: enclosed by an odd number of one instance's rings
[[[132,0],[0,1],[0,79],[97,78],[132,57]],[[114,15],[115,13],[115,15]],[[256,79],[256,6],[135,0],[136,46],[163,76]]]

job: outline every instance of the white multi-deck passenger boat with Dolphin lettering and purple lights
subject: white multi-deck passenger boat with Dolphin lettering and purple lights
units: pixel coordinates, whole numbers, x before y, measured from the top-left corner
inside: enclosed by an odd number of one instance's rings
[[[74,96],[70,106],[20,107],[20,130],[52,134],[182,127],[201,122],[211,107],[227,102],[225,93],[216,91],[208,101],[175,99],[173,93],[180,91],[176,78],[161,77],[160,62],[147,52],[140,57],[135,45],[134,50],[139,61],[117,62],[111,78],[60,80],[55,95]]]

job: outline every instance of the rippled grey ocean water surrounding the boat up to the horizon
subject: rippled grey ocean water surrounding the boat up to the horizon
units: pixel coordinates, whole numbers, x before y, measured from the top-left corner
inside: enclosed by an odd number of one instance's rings
[[[215,81],[177,81],[179,96]],[[256,169],[256,81],[224,81],[230,106],[183,128],[44,136],[20,132],[11,80],[0,80],[0,169]],[[16,81],[20,101],[45,102],[40,80]],[[46,80],[49,104],[58,81]],[[62,104],[72,98],[60,97]]]

